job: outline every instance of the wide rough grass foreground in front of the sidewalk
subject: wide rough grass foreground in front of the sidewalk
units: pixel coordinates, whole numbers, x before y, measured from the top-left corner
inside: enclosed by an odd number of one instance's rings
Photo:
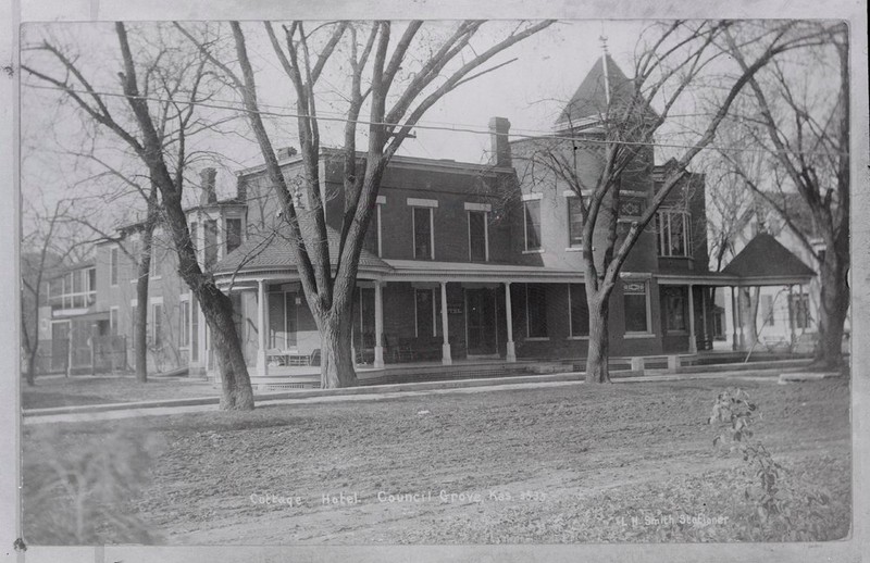
[[[277,545],[847,536],[848,380],[742,381],[763,415],[755,438],[787,471],[778,492],[784,512],[768,520],[745,498],[755,477],[744,476],[738,455],[713,448],[706,424],[729,386],[569,385],[25,426],[24,537]]]

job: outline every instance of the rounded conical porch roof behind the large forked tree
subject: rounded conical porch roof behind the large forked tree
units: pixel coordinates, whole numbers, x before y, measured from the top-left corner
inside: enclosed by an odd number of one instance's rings
[[[330,243],[330,259],[333,265],[337,264],[338,233],[332,227],[326,227],[326,237]],[[215,274],[232,274],[234,272],[251,272],[263,270],[295,270],[296,259],[293,252],[293,241],[286,232],[274,230],[251,235],[233,252],[224,257],[214,266]],[[360,270],[389,270],[389,265],[365,249],[360,253]]]

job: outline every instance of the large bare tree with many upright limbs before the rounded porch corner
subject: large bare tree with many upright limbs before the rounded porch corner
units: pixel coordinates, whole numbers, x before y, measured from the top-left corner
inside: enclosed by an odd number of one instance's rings
[[[460,85],[500,65],[476,72],[498,53],[552,24],[551,21],[520,23],[515,29],[489,46],[473,47],[485,22],[461,22],[443,40],[421,34],[424,23],[408,22],[398,38],[393,38],[390,22],[326,23],[307,30],[303,22],[282,27],[283,37],[271,23],[263,24],[281,68],[296,97],[297,125],[302,157],[300,189],[312,202],[299,210],[294,189],[282,174],[272,140],[261,117],[256,76],[248,55],[246,33],[231,23],[237,67],[220,60],[209,43],[179,28],[195,41],[236,87],[246,115],[265,161],[268,177],[275,190],[288,226],[301,286],[321,335],[321,378],[323,387],[355,385],[351,358],[351,308],[363,238],[375,209],[377,190],[393,155],[408,138],[419,120],[438,100]],[[249,32],[250,34],[250,32]],[[344,211],[338,233],[337,255],[331,257],[328,232],[321,198],[321,123],[319,82],[327,65],[338,65],[344,53],[349,66],[344,140],[340,149],[344,178]],[[414,62],[415,72],[402,70]],[[457,62],[452,67],[451,63]],[[359,120],[368,103],[368,125]],[[368,130],[366,130],[368,129]],[[358,135],[368,136],[364,155],[357,152]],[[333,273],[334,270],[334,273]]]

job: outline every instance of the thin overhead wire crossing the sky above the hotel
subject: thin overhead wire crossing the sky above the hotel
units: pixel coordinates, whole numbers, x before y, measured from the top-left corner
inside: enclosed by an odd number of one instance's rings
[[[119,92],[109,92],[109,91],[98,91],[98,90],[87,90],[87,89],[77,89],[77,88],[61,88],[58,86],[40,86],[40,85],[27,85],[28,88],[36,88],[40,90],[58,90],[63,92],[73,92],[73,93],[85,93],[88,96],[109,96],[114,98],[127,98],[124,93]],[[287,112],[275,112],[275,111],[264,111],[258,110],[252,111],[246,108],[240,108],[237,105],[227,105],[229,103],[238,103],[229,100],[217,100],[223,103],[208,103],[208,102],[191,102],[191,101],[183,101],[183,100],[171,100],[165,98],[157,98],[152,96],[136,96],[134,97],[138,100],[145,101],[152,101],[152,102],[171,102],[171,103],[179,103],[185,105],[199,105],[202,108],[211,108],[215,110],[229,110],[229,111],[237,111],[244,113],[257,113],[259,115],[268,115],[272,117],[302,117],[308,118],[309,115],[300,114],[300,113],[287,113]],[[279,105],[274,104],[260,104],[268,108],[282,108]],[[323,113],[323,112],[322,112]],[[336,113],[337,112],[326,112],[326,113]],[[385,127],[403,127],[405,124],[401,123],[387,123],[387,122],[372,122],[365,120],[348,120],[347,117],[343,116],[324,116],[318,115],[316,117],[319,121],[331,121],[331,122],[340,122],[340,123],[356,123],[358,125],[378,125]],[[446,123],[446,122],[445,122]],[[489,129],[481,129],[475,128],[470,125],[463,124],[449,124],[446,123],[445,125],[425,125],[421,123],[417,123],[413,125],[415,129],[427,129],[427,130],[443,130],[448,133],[469,133],[472,135],[492,135]],[[523,132],[523,133],[517,133]],[[680,143],[670,143],[670,142],[643,142],[643,141],[608,141],[608,140],[598,140],[598,139],[591,139],[588,137],[571,137],[564,135],[554,135],[552,132],[543,130],[543,129],[514,129],[510,133],[512,137],[520,137],[522,139],[548,139],[548,140],[566,140],[572,142],[581,142],[587,145],[601,145],[608,146],[613,143],[630,146],[630,147],[659,147],[659,148],[668,148],[668,149],[692,149],[694,148],[693,145],[680,145]],[[819,155],[834,155],[834,154],[847,154],[847,152],[838,152],[838,151],[799,151],[799,150],[770,150],[770,149],[753,149],[747,147],[711,147],[707,146],[703,150],[719,150],[719,151],[726,151],[726,152],[758,152],[758,153],[788,153],[788,154],[819,154]]]

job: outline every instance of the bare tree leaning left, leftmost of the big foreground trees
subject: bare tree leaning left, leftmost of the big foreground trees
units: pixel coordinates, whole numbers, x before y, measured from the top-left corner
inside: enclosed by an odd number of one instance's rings
[[[170,30],[171,27],[159,26],[156,33],[161,37]],[[134,35],[138,41],[132,46],[123,23],[115,23],[114,32],[121,61],[114,84],[95,86],[86,76],[88,68],[79,62],[78,53],[67,52],[48,39],[28,50],[48,54],[52,61],[46,63],[49,70],[30,62],[23,68],[61,90],[87,120],[111,132],[148,171],[151,186],[160,193],[160,211],[171,233],[179,274],[202,308],[213,336],[223,383],[221,409],[252,409],[253,393],[233,323],[232,301],[200,268],[183,208],[185,172],[191,158],[188,143],[195,132],[210,126],[201,105],[214,97],[216,87],[210,83],[206,60],[198,52],[186,57],[183,50],[172,47],[154,53],[148,34]],[[98,74],[96,68],[90,72]],[[121,105],[114,100],[120,100]],[[141,268],[140,261],[140,273]]]

